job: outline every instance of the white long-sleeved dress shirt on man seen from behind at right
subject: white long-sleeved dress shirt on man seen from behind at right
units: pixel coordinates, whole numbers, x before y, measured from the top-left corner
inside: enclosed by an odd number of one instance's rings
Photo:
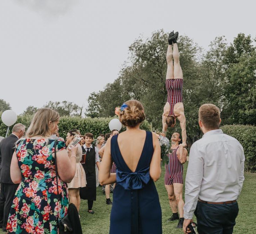
[[[209,202],[236,200],[243,181],[243,146],[221,129],[205,133],[189,153],[184,218],[192,219],[198,198]]]

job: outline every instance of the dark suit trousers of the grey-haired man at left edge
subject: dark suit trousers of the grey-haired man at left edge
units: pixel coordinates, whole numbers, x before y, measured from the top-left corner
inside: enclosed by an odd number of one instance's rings
[[[19,184],[4,184],[1,183],[0,191],[0,226],[6,228],[7,220],[11,206],[13,204],[13,198]]]

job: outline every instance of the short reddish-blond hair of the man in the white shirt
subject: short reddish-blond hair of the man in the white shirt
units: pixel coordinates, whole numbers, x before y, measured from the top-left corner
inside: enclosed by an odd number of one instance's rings
[[[198,118],[206,129],[218,129],[220,126],[220,109],[214,104],[203,104],[198,111]]]

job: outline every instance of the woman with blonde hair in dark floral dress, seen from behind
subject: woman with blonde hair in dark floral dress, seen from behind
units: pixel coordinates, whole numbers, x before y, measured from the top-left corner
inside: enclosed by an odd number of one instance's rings
[[[35,113],[26,139],[20,139],[16,143],[11,178],[13,183],[20,185],[10,210],[7,233],[57,234],[58,221],[67,214],[66,183],[75,174],[77,147],[72,146],[68,156],[63,141],[49,139],[58,128],[59,118],[54,110],[40,109]],[[55,151],[61,199],[57,194]]]

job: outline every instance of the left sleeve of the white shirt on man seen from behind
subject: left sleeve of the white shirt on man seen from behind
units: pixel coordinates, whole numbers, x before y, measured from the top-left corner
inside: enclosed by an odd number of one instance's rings
[[[192,219],[196,209],[198,195],[203,179],[203,157],[197,144],[193,144],[189,153],[185,182],[184,218]]]

